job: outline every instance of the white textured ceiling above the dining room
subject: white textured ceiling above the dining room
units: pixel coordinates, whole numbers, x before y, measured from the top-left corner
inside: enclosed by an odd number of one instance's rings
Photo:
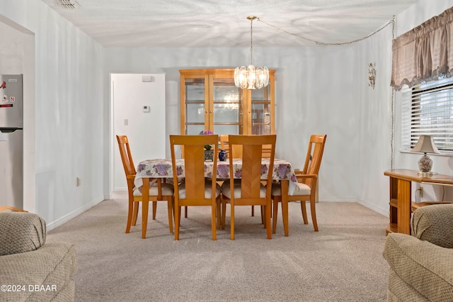
[[[364,38],[418,0],[76,1],[42,0],[106,47],[246,47],[251,15],[254,47],[297,47]]]

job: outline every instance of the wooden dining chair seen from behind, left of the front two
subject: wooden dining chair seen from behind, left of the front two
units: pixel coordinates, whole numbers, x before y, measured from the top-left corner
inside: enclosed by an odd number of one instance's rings
[[[220,186],[217,184],[217,157],[213,159],[213,173],[205,178],[205,145],[213,145],[217,150],[218,135],[170,135],[171,164],[175,185],[175,240],[179,240],[180,207],[211,206],[212,240],[217,240],[216,216],[220,220]],[[176,165],[175,147],[184,147],[184,181]],[[220,222],[220,221],[219,221]]]

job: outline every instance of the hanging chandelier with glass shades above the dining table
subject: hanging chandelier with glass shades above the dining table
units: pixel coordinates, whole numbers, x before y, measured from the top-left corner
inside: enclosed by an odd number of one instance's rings
[[[247,19],[250,20],[250,65],[234,69],[234,84],[241,89],[261,89],[269,84],[269,69],[268,67],[255,68],[253,66],[252,28],[253,20],[256,19],[256,16],[248,16]]]

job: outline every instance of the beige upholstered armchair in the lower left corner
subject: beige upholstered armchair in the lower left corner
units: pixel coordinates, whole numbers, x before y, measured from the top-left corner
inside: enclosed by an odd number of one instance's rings
[[[45,237],[37,214],[0,211],[0,301],[74,301],[75,247]]]

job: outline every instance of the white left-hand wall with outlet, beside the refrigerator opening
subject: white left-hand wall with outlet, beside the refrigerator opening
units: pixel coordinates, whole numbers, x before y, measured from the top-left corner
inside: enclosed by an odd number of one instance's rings
[[[25,186],[34,194],[24,206],[45,218],[50,229],[104,197],[103,47],[39,0],[0,0],[0,16],[33,33],[34,62],[28,62],[33,60],[27,59],[30,38],[25,37],[24,49],[16,50],[23,51],[25,62],[14,63],[34,98],[29,128],[35,137],[24,158],[26,177],[33,177]],[[34,82],[26,84],[30,78]],[[76,177],[82,180],[79,187]]]

